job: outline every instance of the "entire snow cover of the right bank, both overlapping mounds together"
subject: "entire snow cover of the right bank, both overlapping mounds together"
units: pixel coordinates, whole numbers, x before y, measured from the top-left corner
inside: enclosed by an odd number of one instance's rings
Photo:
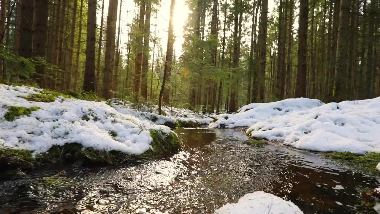
[[[321,152],[380,152],[380,97],[328,103],[285,99],[218,115],[209,128],[249,126],[252,137]]]

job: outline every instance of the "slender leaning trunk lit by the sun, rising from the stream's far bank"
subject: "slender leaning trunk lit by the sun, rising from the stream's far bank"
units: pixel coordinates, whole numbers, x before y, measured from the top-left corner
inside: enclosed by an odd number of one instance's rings
[[[165,91],[165,82],[166,79],[170,76],[171,73],[171,64],[173,58],[173,45],[174,45],[174,27],[173,27],[173,17],[174,17],[174,4],[175,0],[171,0],[170,4],[170,19],[169,19],[169,29],[168,29],[168,45],[166,48],[166,59],[165,59],[165,69],[164,77],[162,80],[162,86],[160,90],[160,96],[158,99],[158,115],[161,115],[161,101]]]

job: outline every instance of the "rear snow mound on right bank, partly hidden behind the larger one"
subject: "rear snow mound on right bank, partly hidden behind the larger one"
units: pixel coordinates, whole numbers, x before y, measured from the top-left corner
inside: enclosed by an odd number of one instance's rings
[[[234,128],[237,126],[252,126],[268,118],[288,115],[292,112],[309,110],[322,105],[317,99],[285,99],[269,103],[251,103],[237,110],[238,113],[220,114],[217,121],[211,123],[209,128]]]

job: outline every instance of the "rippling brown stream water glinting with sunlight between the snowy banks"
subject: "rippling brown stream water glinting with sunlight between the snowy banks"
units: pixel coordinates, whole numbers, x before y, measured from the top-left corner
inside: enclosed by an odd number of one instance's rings
[[[241,131],[176,132],[187,146],[168,158],[99,168],[71,166],[68,177],[79,182],[75,187],[47,188],[33,177],[61,169],[3,180],[0,213],[213,213],[255,191],[290,200],[306,214],[355,213],[360,190],[380,185],[310,152],[242,144],[247,137]]]

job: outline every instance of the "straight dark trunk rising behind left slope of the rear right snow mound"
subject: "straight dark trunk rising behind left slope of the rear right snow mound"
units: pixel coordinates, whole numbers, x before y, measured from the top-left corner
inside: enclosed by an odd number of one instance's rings
[[[258,72],[258,97],[259,102],[265,99],[265,68],[266,68],[266,35],[268,26],[268,0],[261,2],[261,18],[259,24],[258,43],[260,49],[260,66]]]

